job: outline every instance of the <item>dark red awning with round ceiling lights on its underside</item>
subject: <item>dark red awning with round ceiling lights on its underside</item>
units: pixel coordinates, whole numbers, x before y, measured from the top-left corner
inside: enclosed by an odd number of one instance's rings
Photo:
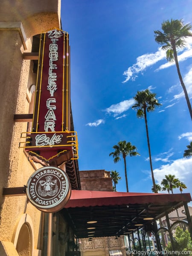
[[[190,202],[185,194],[154,194],[72,190],[61,210],[78,238],[121,236]],[[149,220],[150,219],[150,220]],[[90,231],[91,230],[91,231]]]

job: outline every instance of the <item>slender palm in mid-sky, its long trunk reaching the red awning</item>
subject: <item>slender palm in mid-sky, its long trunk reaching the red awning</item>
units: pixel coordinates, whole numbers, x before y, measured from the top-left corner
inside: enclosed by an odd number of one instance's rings
[[[151,148],[149,143],[149,136],[148,136],[148,125],[147,125],[147,112],[154,111],[156,107],[159,107],[161,104],[155,98],[156,93],[151,93],[148,89],[143,91],[137,91],[136,96],[134,97],[135,104],[132,106],[133,109],[137,110],[137,117],[145,119],[145,128],[147,134],[147,143],[148,143],[148,153],[149,153],[149,161],[151,167],[151,177],[153,181],[154,192],[157,193],[157,189],[155,186],[154,180],[154,173],[152,167],[152,160],[151,160]]]

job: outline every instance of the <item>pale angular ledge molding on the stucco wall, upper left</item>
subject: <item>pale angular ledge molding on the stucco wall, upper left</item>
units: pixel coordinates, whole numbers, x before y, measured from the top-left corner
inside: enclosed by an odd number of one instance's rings
[[[23,29],[23,25],[20,21],[1,21],[0,22],[0,30],[18,30],[20,39],[23,44],[23,48],[26,50],[26,35]]]

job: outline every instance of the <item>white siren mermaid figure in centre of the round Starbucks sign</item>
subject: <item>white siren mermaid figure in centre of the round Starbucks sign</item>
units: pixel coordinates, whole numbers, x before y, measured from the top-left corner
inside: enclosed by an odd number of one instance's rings
[[[38,194],[42,197],[56,195],[58,192],[57,180],[52,181],[52,176],[50,175],[45,177],[45,179],[39,181]]]

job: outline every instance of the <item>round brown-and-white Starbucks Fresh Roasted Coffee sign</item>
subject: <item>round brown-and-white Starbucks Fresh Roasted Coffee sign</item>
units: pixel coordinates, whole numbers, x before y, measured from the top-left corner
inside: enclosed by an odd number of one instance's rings
[[[26,186],[29,201],[42,212],[57,212],[67,204],[71,186],[67,174],[58,167],[46,166],[35,171]]]

